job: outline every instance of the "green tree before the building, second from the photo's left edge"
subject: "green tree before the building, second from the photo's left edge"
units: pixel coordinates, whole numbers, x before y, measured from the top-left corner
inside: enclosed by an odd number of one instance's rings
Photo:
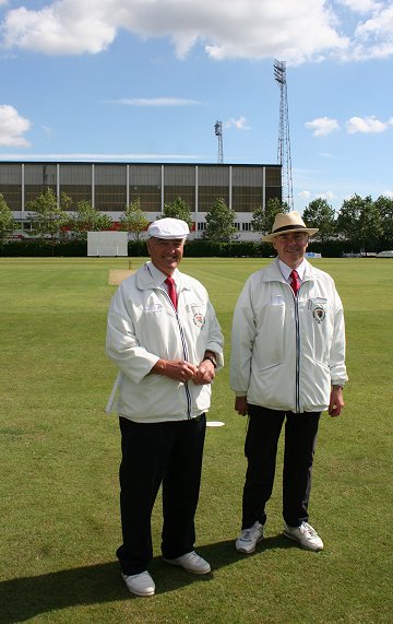
[[[51,188],[45,189],[34,200],[26,203],[28,214],[33,224],[33,233],[38,238],[50,238],[55,244],[56,240],[64,236],[64,226],[68,222],[67,210],[70,210],[72,199],[61,193],[60,201]]]

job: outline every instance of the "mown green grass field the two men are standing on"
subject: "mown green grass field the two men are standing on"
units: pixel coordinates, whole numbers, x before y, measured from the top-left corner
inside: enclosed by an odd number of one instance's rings
[[[132,268],[141,263],[132,259]],[[247,276],[267,260],[183,259],[209,289],[226,337]],[[246,421],[228,367],[214,384],[196,550],[209,578],[168,568],[153,516],[157,593],[128,593],[115,551],[119,433],[104,408],[110,269],[126,259],[0,259],[0,622],[132,624],[392,623],[393,261],[313,260],[346,310],[349,384],[340,419],[321,420],[310,521],[325,550],[282,537],[282,448],[266,539],[236,553]]]

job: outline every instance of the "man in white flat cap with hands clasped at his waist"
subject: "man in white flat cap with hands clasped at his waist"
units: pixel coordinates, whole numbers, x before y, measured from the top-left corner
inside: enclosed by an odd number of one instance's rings
[[[204,286],[178,270],[188,234],[179,219],[152,223],[151,261],[120,284],[108,313],[107,354],[119,368],[122,451],[123,542],[117,555],[136,596],[155,592],[147,567],[160,485],[164,561],[194,574],[211,572],[193,550],[194,516],[211,385],[224,363],[223,334]]]

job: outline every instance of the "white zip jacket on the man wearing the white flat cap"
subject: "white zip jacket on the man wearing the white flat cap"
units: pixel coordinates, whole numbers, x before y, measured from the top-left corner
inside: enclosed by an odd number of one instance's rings
[[[219,368],[224,364],[221,327],[200,282],[176,270],[176,313],[150,264],[120,284],[109,306],[107,355],[120,370],[116,411],[135,422],[194,417],[209,410],[211,385],[184,384],[148,373],[159,358],[198,365],[206,350],[217,354]]]

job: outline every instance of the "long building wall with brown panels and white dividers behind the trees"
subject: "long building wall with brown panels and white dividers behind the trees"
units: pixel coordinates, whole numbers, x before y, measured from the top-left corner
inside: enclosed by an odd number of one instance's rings
[[[165,203],[181,197],[193,213],[196,237],[222,197],[236,212],[240,238],[258,238],[251,232],[252,213],[270,198],[281,201],[282,172],[281,165],[0,162],[0,192],[15,219],[28,221],[28,202],[48,187],[58,198],[70,196],[73,207],[91,201],[114,221],[138,198],[153,221]]]

